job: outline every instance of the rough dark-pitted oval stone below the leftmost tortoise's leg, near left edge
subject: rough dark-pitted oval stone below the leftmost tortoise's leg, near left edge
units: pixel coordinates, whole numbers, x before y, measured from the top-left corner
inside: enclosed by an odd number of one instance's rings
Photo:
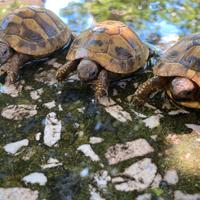
[[[1,115],[6,119],[22,120],[37,114],[36,105],[9,105],[5,107]]]

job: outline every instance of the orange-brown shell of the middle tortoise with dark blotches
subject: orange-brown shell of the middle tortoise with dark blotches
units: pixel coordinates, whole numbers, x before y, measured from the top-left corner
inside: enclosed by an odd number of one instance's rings
[[[104,21],[80,34],[74,40],[67,60],[87,58],[108,71],[127,74],[143,66],[149,49],[124,23]]]

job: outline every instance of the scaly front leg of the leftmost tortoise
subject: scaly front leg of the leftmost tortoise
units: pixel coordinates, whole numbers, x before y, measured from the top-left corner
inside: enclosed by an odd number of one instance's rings
[[[9,85],[15,83],[20,67],[24,63],[26,63],[28,60],[30,60],[30,58],[31,58],[31,56],[28,56],[28,55],[25,55],[25,54],[15,53],[4,64],[4,67],[6,68],[6,73],[7,73],[5,85],[9,86]]]

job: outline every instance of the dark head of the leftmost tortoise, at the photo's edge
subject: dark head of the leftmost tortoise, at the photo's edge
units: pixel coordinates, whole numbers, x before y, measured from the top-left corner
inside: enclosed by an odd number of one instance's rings
[[[0,65],[4,64],[12,55],[12,50],[5,40],[4,33],[0,31]]]

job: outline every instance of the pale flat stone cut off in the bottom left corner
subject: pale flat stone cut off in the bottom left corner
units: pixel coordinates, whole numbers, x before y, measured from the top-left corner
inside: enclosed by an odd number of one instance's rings
[[[38,196],[38,191],[28,188],[0,188],[0,200],[37,200]]]

